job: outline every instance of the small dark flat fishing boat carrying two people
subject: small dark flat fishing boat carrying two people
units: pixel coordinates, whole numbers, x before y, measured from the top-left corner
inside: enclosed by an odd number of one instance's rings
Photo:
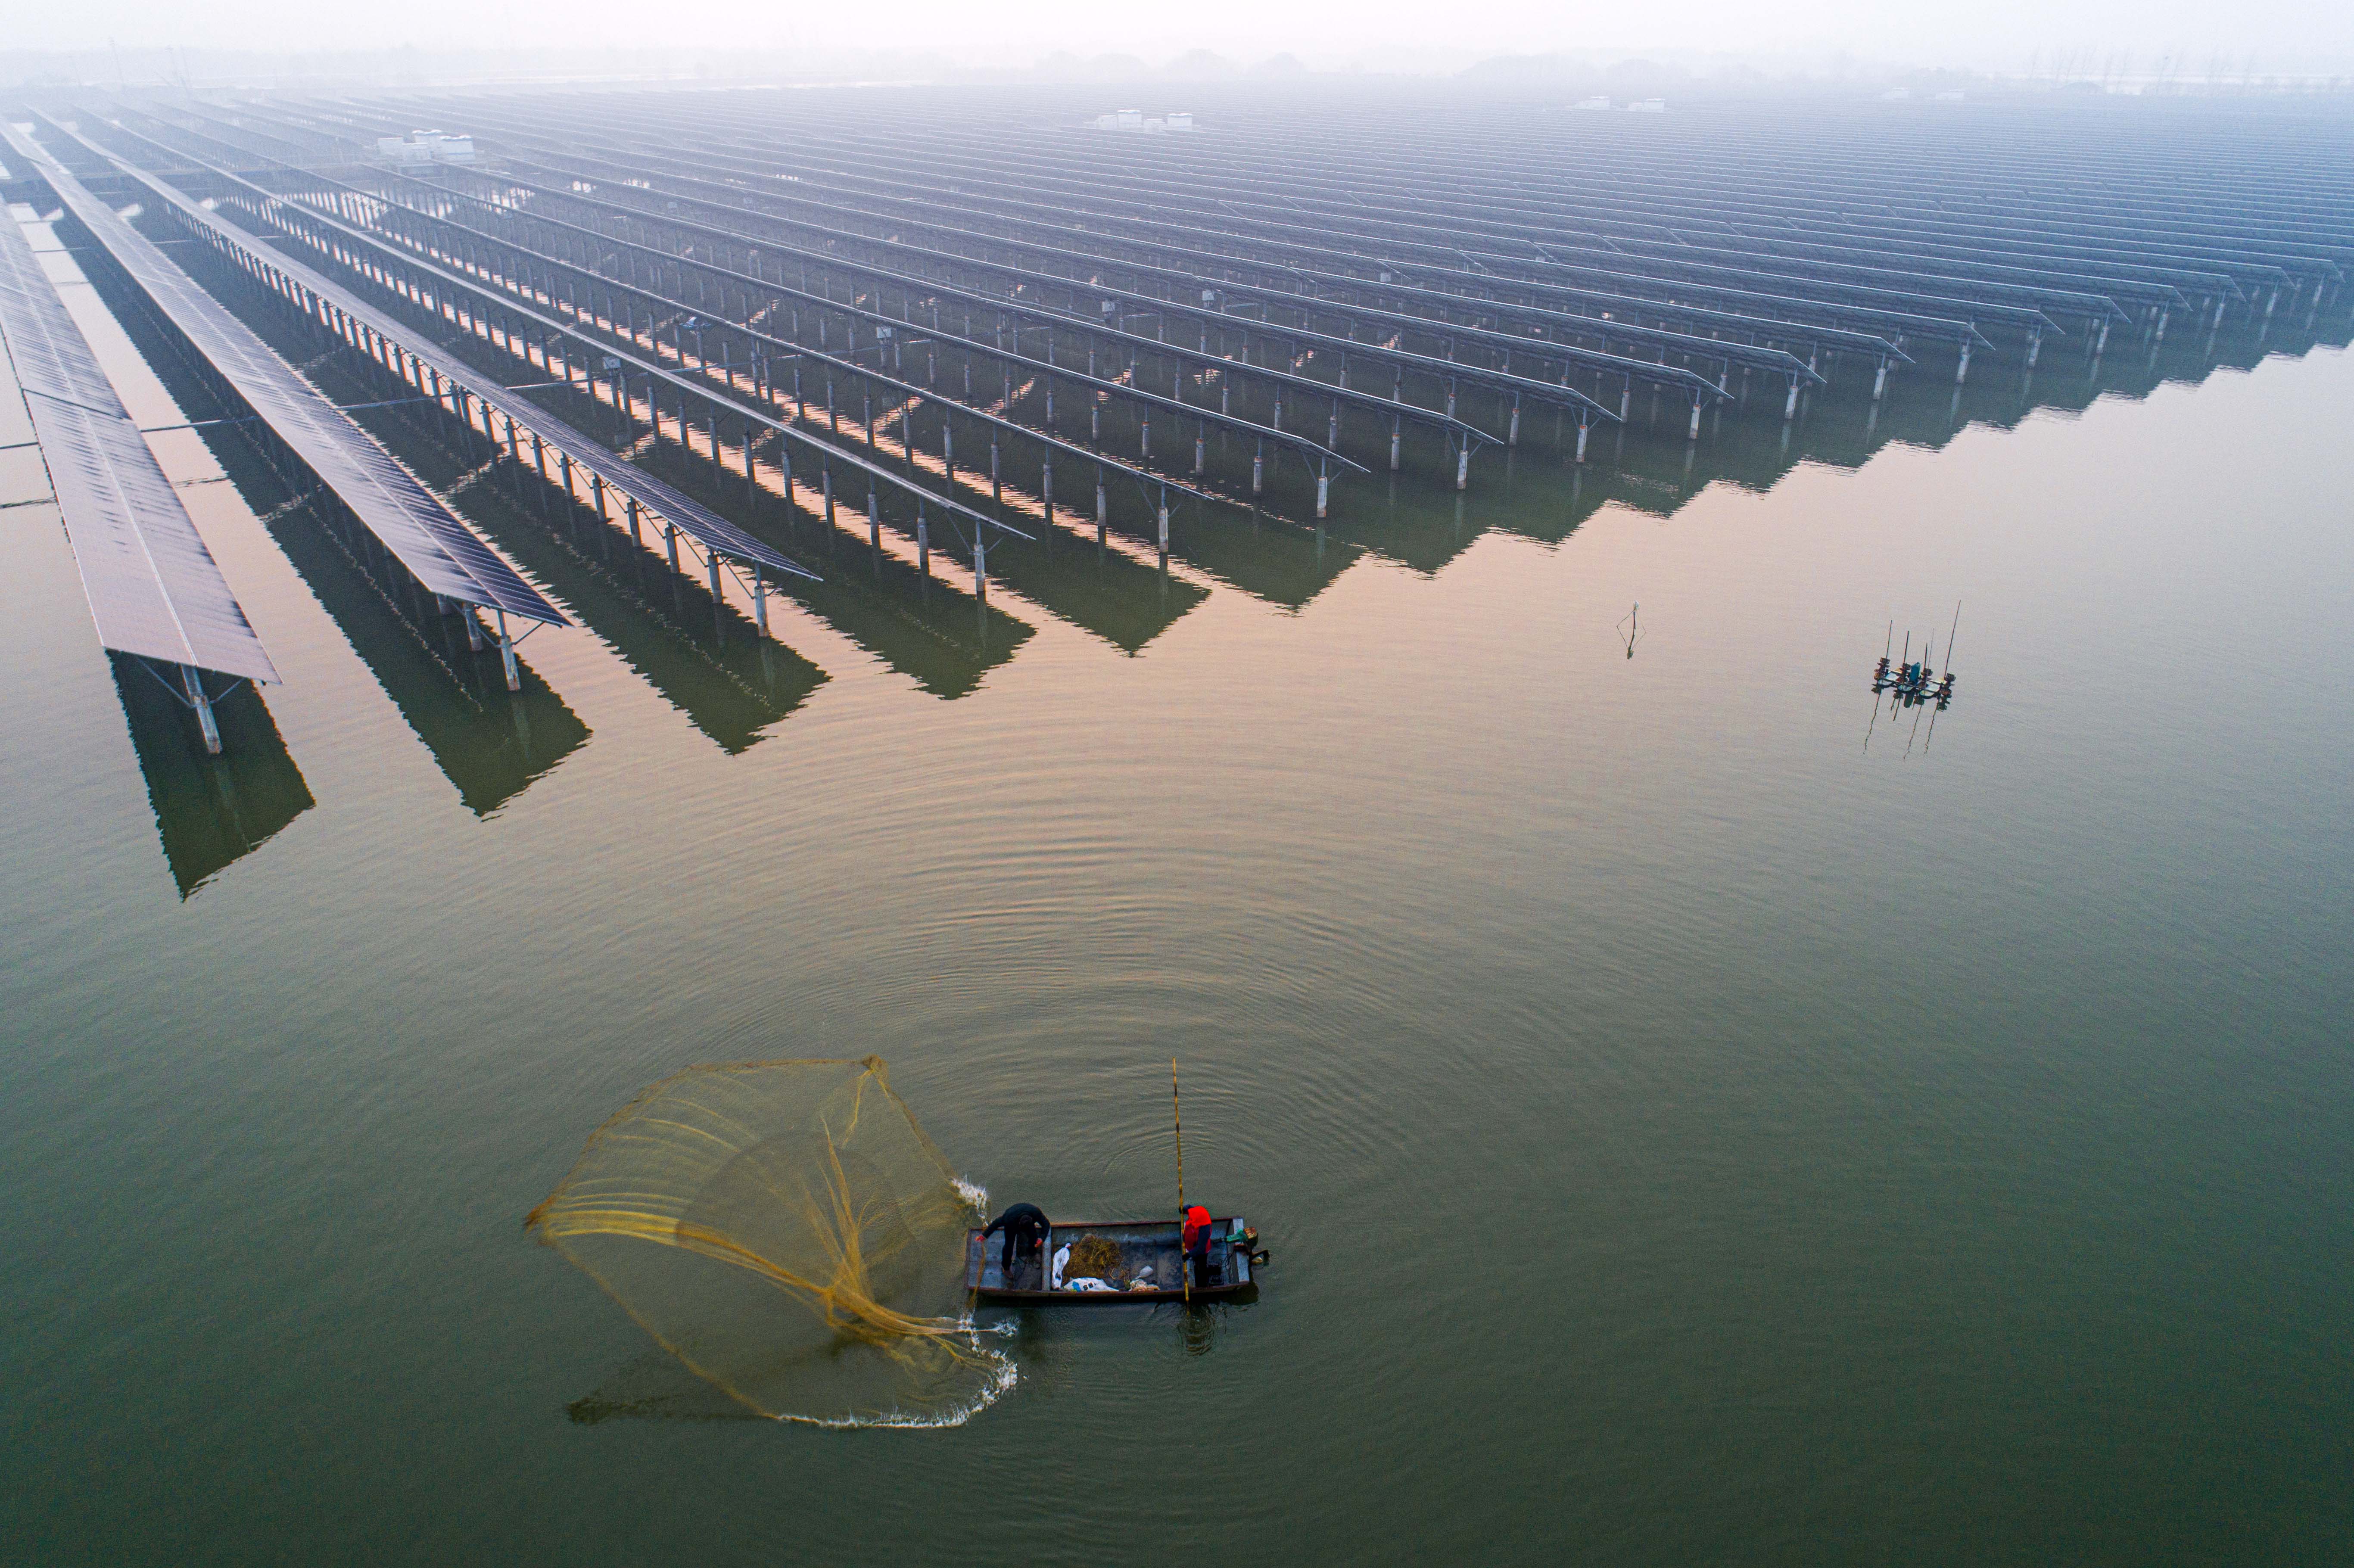
[[[1102,1236],[1118,1248],[1118,1262],[1097,1264],[1095,1274],[1057,1278],[1057,1257],[1069,1260],[1069,1250]],[[1182,1227],[1177,1220],[1088,1220],[1052,1224],[1048,1243],[1033,1257],[1015,1262],[1015,1276],[1005,1278],[1005,1243],[998,1236],[982,1236],[975,1227],[965,1234],[965,1288],[982,1302],[1019,1307],[1071,1304],[1102,1307],[1116,1302],[1231,1302],[1252,1288],[1255,1267],[1266,1264],[1266,1253],[1257,1250],[1257,1231],[1231,1220],[1210,1220],[1210,1278],[1186,1281],[1191,1264],[1184,1257]],[[1104,1248],[1088,1248],[1102,1257]]]

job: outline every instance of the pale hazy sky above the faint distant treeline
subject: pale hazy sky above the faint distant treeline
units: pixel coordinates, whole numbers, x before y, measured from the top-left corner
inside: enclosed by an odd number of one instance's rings
[[[1179,21],[1182,16],[1182,21]],[[659,33],[650,31],[659,19]],[[2133,49],[2149,68],[2173,49],[2192,71],[2255,57],[2265,73],[2335,71],[2354,59],[2354,5],[2328,0],[1676,0],[1612,5],[1483,0],[1198,0],[1137,7],[1106,0],[887,0],[814,7],[746,0],[0,0],[0,47],[257,47],[381,45],[694,49],[953,47],[972,64],[1022,64],[1050,49],[1132,52],[1149,61],[1205,47],[1252,61],[1290,49],[1339,66],[1372,47],[1497,54],[1544,49],[1711,49],[1855,54],[1919,64],[2024,68],[2064,49]],[[1384,52],[1389,52],[1384,49]],[[1410,57],[1408,57],[1410,59]]]

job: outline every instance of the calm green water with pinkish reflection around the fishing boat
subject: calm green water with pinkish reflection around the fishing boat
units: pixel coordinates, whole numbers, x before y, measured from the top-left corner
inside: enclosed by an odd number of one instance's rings
[[[520,704],[155,436],[287,676],[221,770],[0,511],[7,1556],[2354,1556],[2354,360],[2168,353],[1008,546],[989,624],[803,534],[765,659],[485,487],[584,622]],[[588,1130],[864,1052],[1090,1217],[1179,1057],[1264,1293],[1029,1316],[946,1431],[567,1415],[676,1391],[520,1229]]]

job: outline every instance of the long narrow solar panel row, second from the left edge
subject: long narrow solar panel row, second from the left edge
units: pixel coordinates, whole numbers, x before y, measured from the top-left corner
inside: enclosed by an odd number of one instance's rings
[[[419,584],[468,605],[567,626],[563,612],[476,539],[450,509],[348,414],[318,396],[252,327],[231,315],[146,235],[115,217],[24,132],[0,125],[155,308],[271,431],[384,542]]]

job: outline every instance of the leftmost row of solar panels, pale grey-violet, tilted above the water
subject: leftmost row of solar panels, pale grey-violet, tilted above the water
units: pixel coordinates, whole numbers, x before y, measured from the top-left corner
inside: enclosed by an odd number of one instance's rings
[[[24,231],[5,214],[0,334],[49,466],[99,643],[165,664],[278,680],[179,492]]]

